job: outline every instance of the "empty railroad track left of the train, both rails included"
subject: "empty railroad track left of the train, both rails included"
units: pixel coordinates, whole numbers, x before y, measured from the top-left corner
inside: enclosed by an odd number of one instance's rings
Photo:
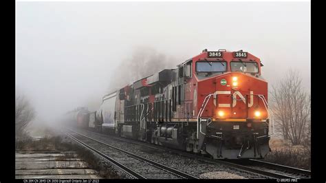
[[[109,160],[122,171],[137,179],[198,179],[198,177],[188,173],[142,158],[140,155],[113,147],[81,133],[73,131],[73,133],[66,134],[83,147],[98,153],[102,158]]]

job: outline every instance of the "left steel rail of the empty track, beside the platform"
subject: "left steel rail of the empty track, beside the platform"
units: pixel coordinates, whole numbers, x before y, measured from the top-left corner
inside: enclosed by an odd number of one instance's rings
[[[75,138],[74,136],[70,135],[69,133],[66,133],[66,134],[67,134],[67,136],[69,136],[70,138],[72,138],[73,140],[75,140],[76,142],[78,142],[79,144],[81,144],[83,147],[86,147],[87,149],[90,149],[91,151],[94,151],[95,153],[98,153],[98,155],[102,156],[102,158],[105,158],[106,160],[109,160],[109,162],[112,162],[113,164],[116,164],[116,166],[118,166],[123,171],[129,173],[133,177],[135,177],[137,179],[146,179],[146,177],[144,177],[144,176],[140,175],[139,173],[136,173],[135,171],[129,169],[127,166],[124,166],[120,162],[117,162],[116,160],[113,160],[108,155],[105,155],[104,153],[101,153],[100,151],[94,149],[93,147],[90,147],[85,142],[82,142],[81,140],[78,140],[77,138]]]

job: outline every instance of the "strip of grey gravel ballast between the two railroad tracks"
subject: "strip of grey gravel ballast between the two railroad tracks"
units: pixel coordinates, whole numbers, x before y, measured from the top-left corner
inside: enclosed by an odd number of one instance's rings
[[[153,160],[155,162],[159,162],[166,166],[170,166],[173,169],[177,169],[183,171],[185,173],[194,175],[196,177],[207,178],[248,178],[248,179],[259,179],[266,178],[263,175],[258,175],[256,173],[250,173],[247,171],[242,171],[239,169],[235,169],[232,167],[225,166],[223,164],[216,164],[205,162],[203,160],[199,160],[196,158],[189,158],[186,155],[174,153],[169,150],[162,149],[154,149],[151,147],[142,146],[140,144],[134,144],[131,142],[124,142],[121,140],[116,140],[110,138],[110,136],[105,136],[100,133],[95,133],[92,131],[85,131],[82,129],[75,129],[75,131],[84,134],[85,136],[89,136],[96,140],[100,140],[101,142],[105,142],[107,144],[113,145],[125,151],[129,151],[131,153],[135,153],[136,155],[141,155],[144,158],[148,158],[149,160]],[[145,144],[145,143],[144,143]],[[105,151],[107,147],[102,146],[102,149],[98,149],[100,151]],[[226,173],[216,173],[216,172],[226,172]],[[208,173],[208,174],[205,174]],[[216,175],[213,176],[213,174]],[[204,176],[204,177],[203,177]]]

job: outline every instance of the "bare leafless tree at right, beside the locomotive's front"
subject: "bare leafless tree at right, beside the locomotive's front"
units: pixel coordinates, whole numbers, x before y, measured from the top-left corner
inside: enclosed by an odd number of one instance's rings
[[[311,97],[301,86],[301,77],[290,69],[282,80],[272,86],[271,110],[283,138],[292,144],[301,144],[310,136]]]

